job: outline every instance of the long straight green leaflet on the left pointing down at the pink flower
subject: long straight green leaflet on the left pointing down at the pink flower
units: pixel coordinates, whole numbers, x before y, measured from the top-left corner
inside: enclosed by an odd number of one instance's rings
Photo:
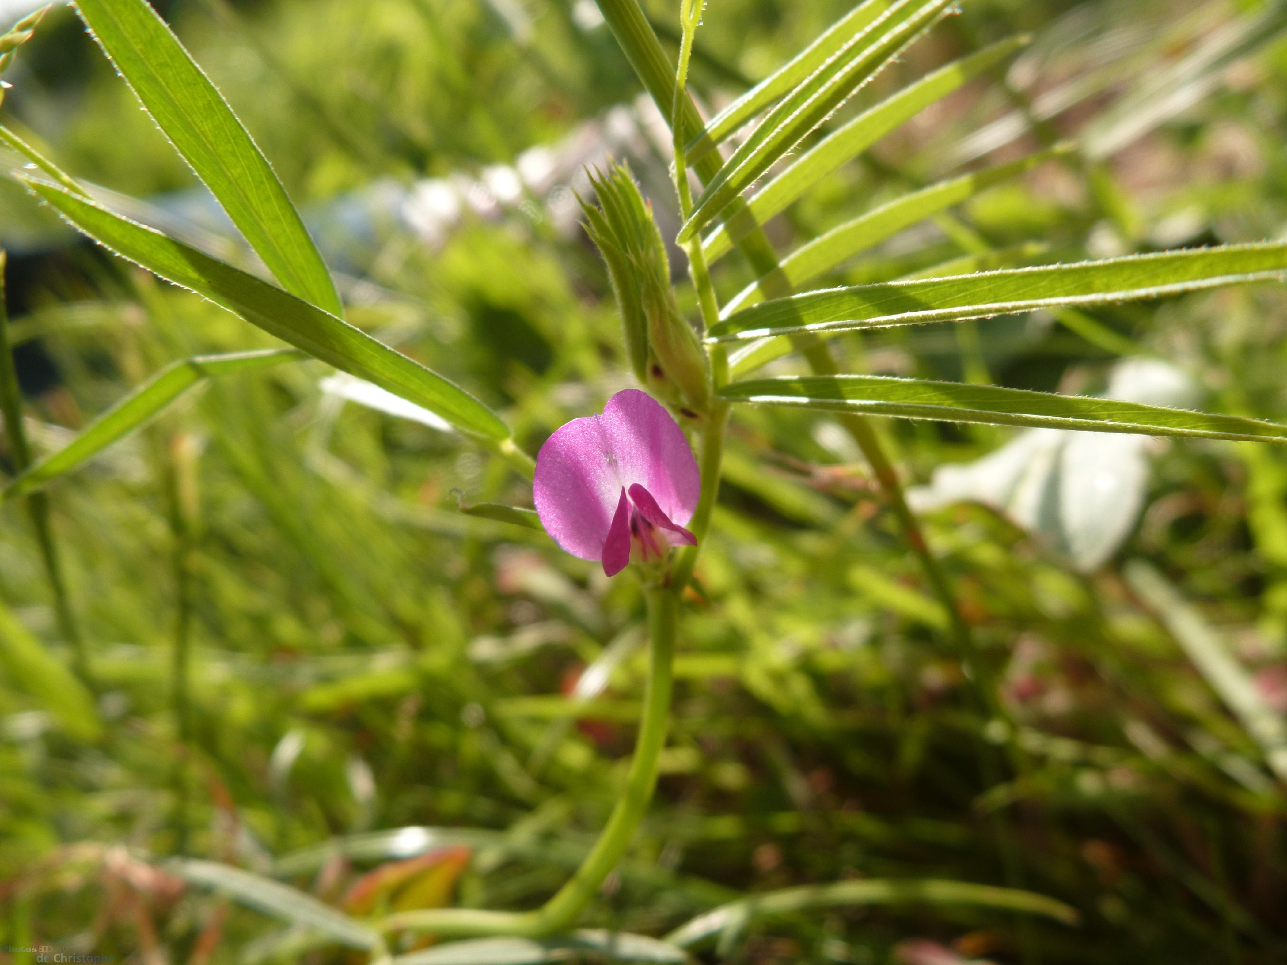
[[[505,422],[472,395],[335,315],[53,184],[26,181],[76,228],[122,257],[329,365],[438,413],[462,432],[493,444],[508,440]]]

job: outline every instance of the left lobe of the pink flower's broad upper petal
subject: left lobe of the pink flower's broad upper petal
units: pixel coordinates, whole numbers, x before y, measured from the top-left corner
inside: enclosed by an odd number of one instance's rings
[[[602,417],[561,426],[537,454],[532,498],[553,540],[582,560],[600,560],[622,497]]]

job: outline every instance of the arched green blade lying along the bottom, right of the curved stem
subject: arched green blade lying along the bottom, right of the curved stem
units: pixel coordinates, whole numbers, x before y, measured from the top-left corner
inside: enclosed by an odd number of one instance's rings
[[[740,928],[753,917],[790,915],[811,908],[837,908],[846,905],[974,906],[1045,915],[1066,925],[1073,925],[1077,921],[1076,910],[1060,901],[1033,892],[970,884],[969,881],[869,879],[784,888],[731,902],[699,915],[668,934],[665,941],[687,948],[726,928]]]

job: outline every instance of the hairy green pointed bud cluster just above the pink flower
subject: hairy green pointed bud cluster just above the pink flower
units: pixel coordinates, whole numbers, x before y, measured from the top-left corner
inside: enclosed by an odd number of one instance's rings
[[[591,174],[598,207],[582,202],[586,232],[607,264],[634,377],[690,421],[710,409],[705,351],[671,290],[662,233],[625,165]]]

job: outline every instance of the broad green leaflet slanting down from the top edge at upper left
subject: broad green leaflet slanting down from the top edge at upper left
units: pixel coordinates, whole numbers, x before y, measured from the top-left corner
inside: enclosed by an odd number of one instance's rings
[[[282,183],[165,21],[147,0],[77,0],[76,8],[152,120],[282,287],[342,315],[331,273]]]

